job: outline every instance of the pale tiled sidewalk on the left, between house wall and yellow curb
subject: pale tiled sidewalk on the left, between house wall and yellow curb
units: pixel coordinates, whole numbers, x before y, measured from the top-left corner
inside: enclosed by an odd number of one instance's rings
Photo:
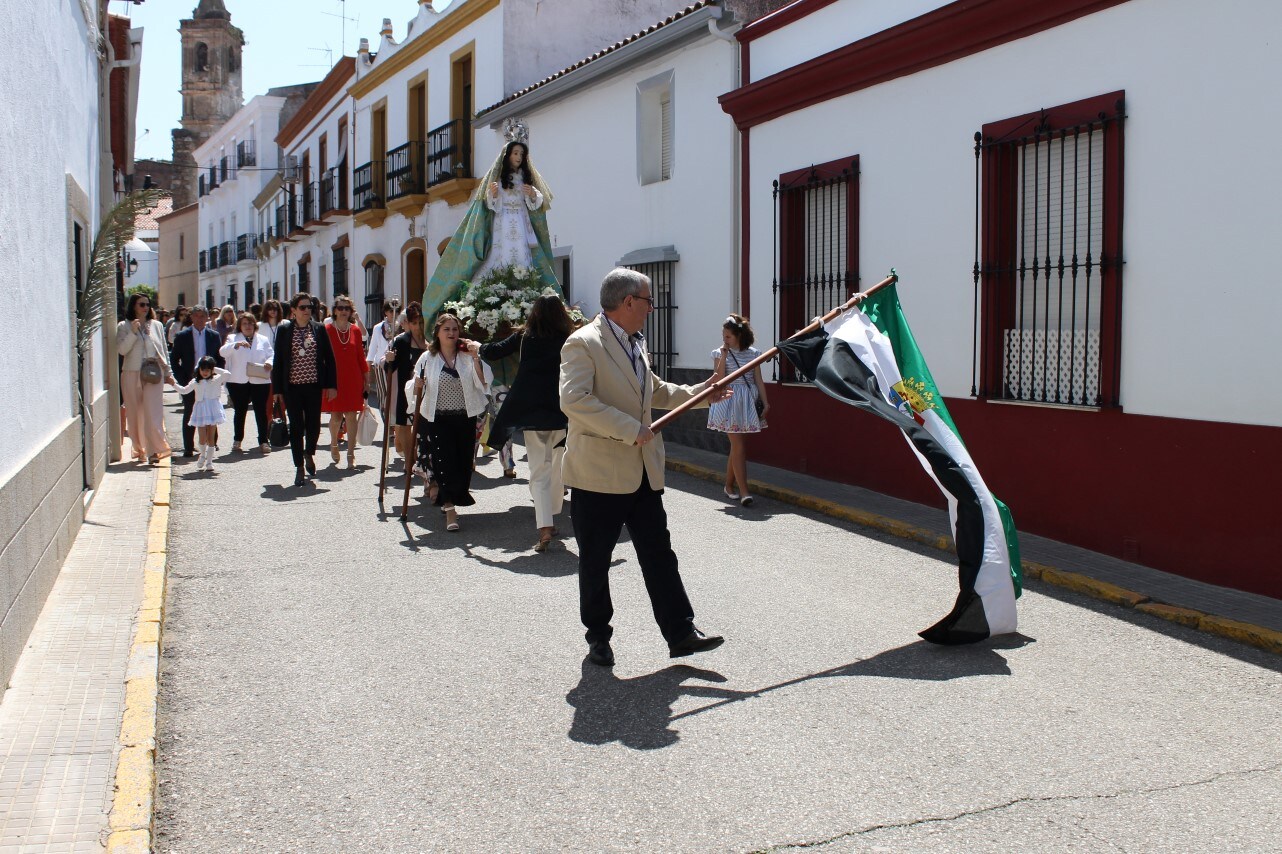
[[[112,465],[0,701],[0,851],[101,851],[156,472]]]

